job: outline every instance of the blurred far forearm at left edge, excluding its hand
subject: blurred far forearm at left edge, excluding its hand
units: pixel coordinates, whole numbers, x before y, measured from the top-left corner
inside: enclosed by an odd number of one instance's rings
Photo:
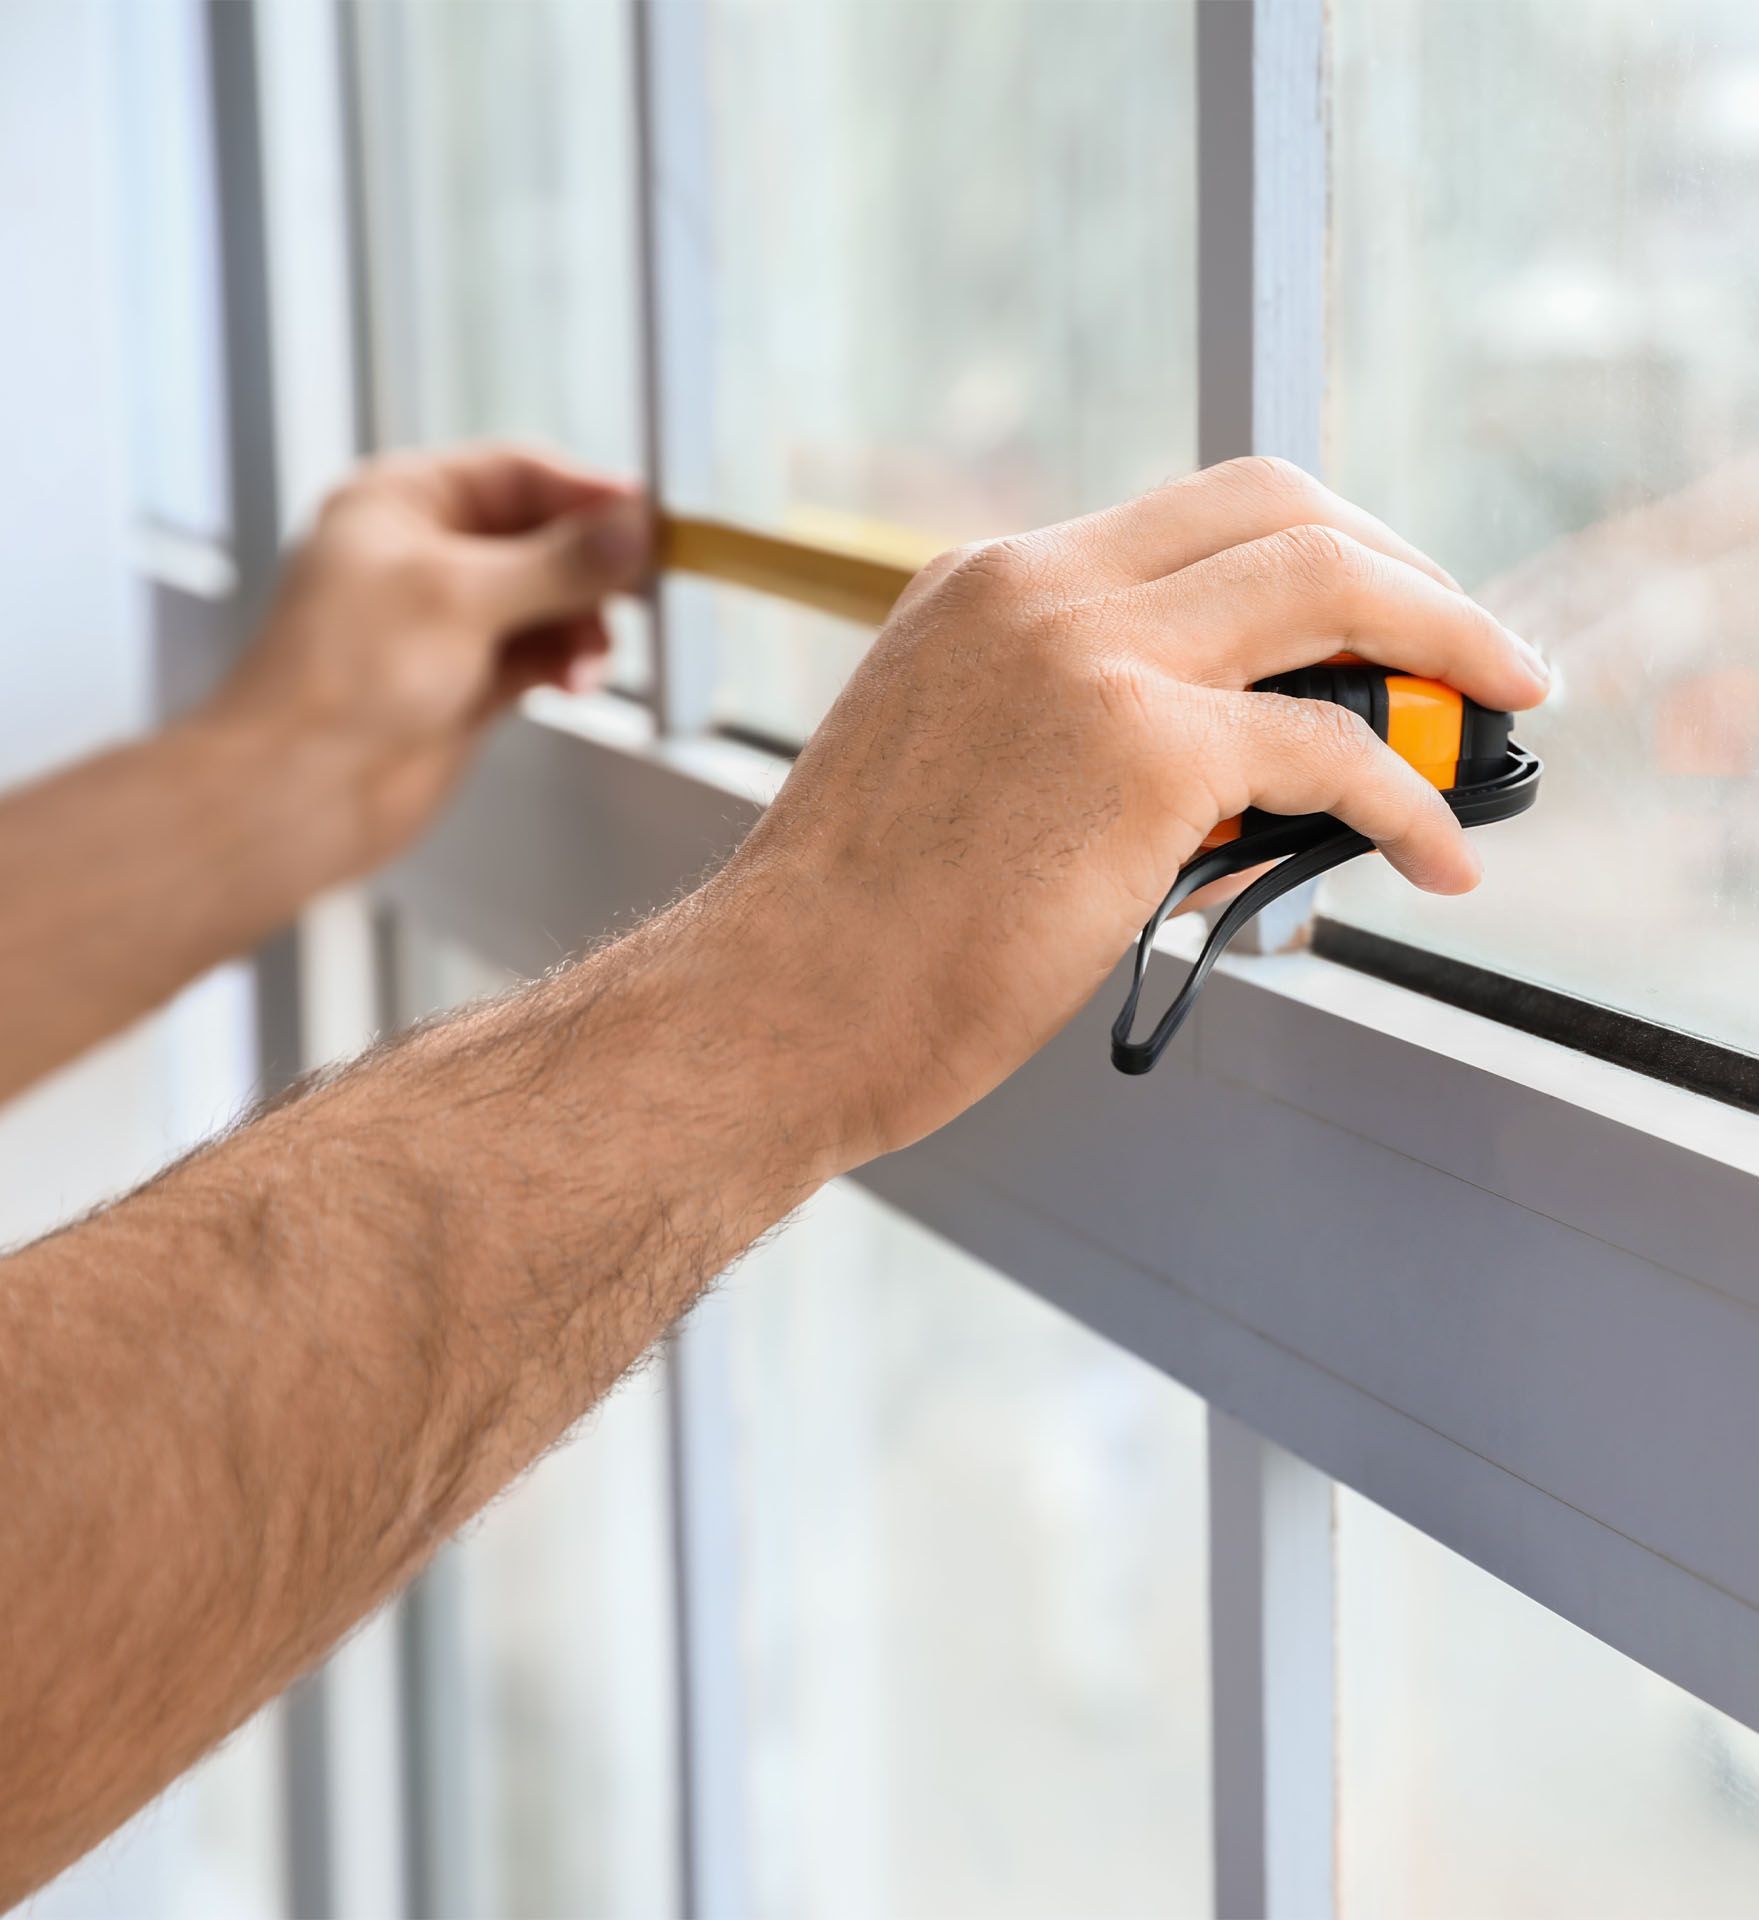
[[[321,753],[204,712],[0,799],[0,1098],[346,866],[348,785]]]

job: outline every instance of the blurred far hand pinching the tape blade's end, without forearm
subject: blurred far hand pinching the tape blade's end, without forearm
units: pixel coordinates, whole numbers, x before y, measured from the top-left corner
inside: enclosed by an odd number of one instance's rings
[[[649,549],[634,486],[543,453],[374,461],[325,505],[205,718],[261,749],[261,778],[340,803],[330,877],[367,872],[426,826],[520,693],[599,684],[601,603]]]

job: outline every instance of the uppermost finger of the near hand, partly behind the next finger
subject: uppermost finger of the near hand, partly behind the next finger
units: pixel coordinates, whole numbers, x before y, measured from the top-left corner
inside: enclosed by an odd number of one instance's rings
[[[1154,488],[1137,499],[1029,536],[1062,551],[1087,582],[1081,597],[1162,580],[1229,547],[1265,540],[1290,526],[1331,526],[1375,553],[1459,591],[1436,566],[1383,520],[1352,505],[1289,461],[1223,461]]]

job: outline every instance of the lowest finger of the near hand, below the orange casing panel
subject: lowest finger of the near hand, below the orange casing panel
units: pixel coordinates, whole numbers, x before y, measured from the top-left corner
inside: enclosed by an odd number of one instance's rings
[[[1333,814],[1371,839],[1413,885],[1469,893],[1482,876],[1452,808],[1356,714],[1279,693],[1219,695],[1225,812]],[[1217,783],[1219,793],[1219,783]]]

